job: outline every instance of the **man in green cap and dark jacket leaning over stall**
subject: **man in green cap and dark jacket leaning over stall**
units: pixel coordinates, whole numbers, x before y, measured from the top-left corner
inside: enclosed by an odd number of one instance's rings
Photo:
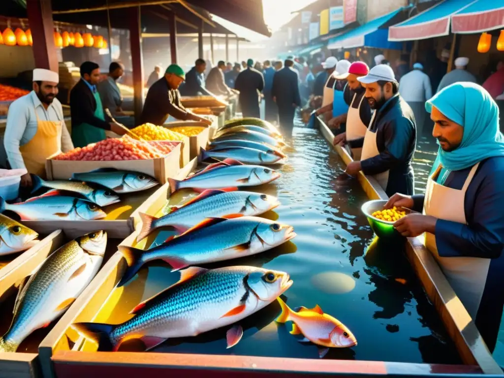
[[[207,118],[200,117],[182,106],[178,87],[185,80],[184,70],[180,66],[170,65],[164,77],[155,82],[147,92],[141,123],[162,125],[169,115],[176,119],[201,121],[212,124]]]

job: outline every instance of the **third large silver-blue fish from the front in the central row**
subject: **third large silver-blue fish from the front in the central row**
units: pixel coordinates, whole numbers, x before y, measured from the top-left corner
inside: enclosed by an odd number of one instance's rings
[[[278,205],[280,203],[275,197],[266,194],[207,190],[161,218],[140,213],[142,230],[138,234],[137,241],[163,226],[173,226],[182,233],[207,218],[223,217],[229,214],[259,215]]]

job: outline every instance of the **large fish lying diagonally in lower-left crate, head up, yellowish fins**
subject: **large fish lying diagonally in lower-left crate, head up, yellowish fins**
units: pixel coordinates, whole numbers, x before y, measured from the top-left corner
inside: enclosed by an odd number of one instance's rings
[[[15,352],[33,331],[47,327],[82,293],[103,261],[107,233],[96,231],[50,255],[19,288],[14,319],[0,338],[0,352]]]

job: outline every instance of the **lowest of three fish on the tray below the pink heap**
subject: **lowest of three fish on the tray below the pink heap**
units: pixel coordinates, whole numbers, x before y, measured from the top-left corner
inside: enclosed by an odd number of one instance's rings
[[[75,197],[47,193],[18,204],[8,204],[0,198],[0,212],[10,210],[21,220],[93,220],[107,215],[92,202]]]

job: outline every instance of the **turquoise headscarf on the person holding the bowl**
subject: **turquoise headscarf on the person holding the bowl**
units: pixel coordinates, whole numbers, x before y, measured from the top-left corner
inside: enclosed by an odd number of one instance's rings
[[[449,171],[458,171],[490,157],[504,156],[499,109],[481,86],[466,82],[452,84],[427,100],[427,112],[430,113],[432,107],[462,125],[464,136],[460,146],[453,151],[447,152],[439,147],[430,174],[439,163]]]

